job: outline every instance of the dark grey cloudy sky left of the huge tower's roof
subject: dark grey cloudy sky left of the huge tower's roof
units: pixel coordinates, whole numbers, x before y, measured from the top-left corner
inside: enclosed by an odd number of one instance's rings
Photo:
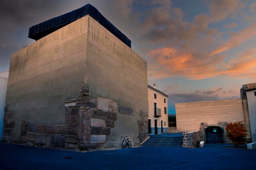
[[[65,0],[0,1],[0,71],[9,69],[11,54],[34,40],[27,38],[29,27],[76,9]]]

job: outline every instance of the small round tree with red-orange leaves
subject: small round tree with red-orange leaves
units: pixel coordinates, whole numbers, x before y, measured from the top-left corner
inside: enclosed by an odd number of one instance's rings
[[[236,147],[245,143],[245,137],[247,135],[247,129],[242,123],[243,121],[236,121],[235,123],[228,123],[226,126],[227,137],[234,143]]]

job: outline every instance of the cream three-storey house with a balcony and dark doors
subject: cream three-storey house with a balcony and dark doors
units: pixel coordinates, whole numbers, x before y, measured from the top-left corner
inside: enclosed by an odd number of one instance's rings
[[[168,130],[168,95],[148,85],[148,134],[166,133]]]

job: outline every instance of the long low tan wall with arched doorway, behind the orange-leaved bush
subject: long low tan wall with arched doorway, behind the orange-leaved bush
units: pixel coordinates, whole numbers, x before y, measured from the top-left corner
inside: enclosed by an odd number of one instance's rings
[[[227,99],[175,103],[177,132],[200,131],[206,143],[228,143],[226,125],[243,121],[247,128],[247,142],[252,141],[246,99]]]

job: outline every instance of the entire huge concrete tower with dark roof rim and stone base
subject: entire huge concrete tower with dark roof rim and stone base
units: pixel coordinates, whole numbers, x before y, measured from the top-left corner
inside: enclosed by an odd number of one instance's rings
[[[146,139],[147,62],[96,8],[35,25],[29,37],[11,56],[4,141],[90,150]]]

